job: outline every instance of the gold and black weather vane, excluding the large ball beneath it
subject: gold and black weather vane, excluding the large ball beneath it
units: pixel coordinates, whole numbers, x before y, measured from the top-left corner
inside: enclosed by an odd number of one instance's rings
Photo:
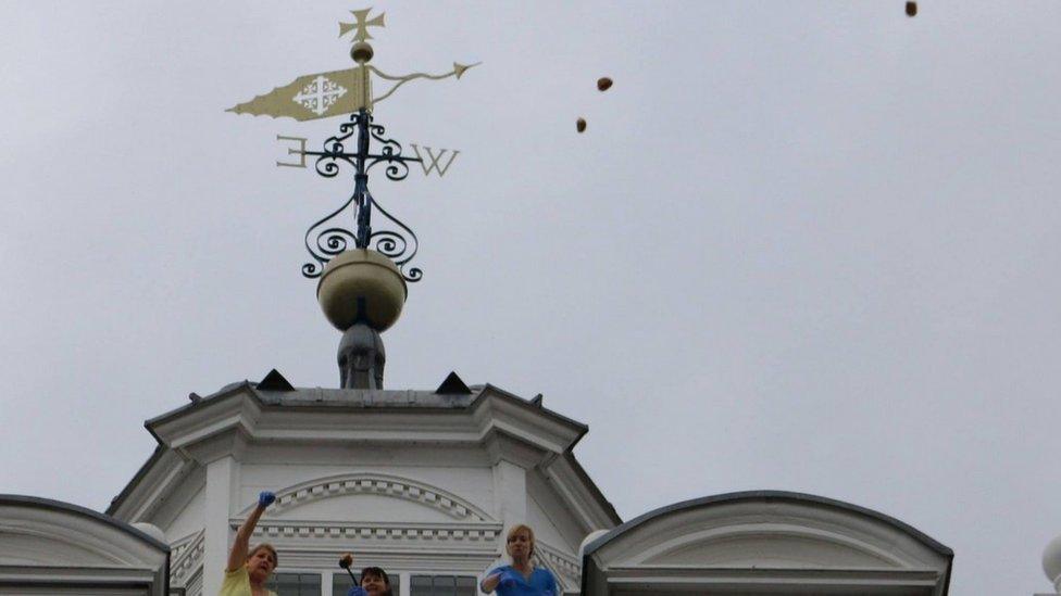
[[[320,277],[324,266],[334,256],[351,245],[358,249],[373,249],[390,257],[408,281],[419,281],[423,272],[407,265],[416,255],[417,240],[412,229],[384,210],[369,192],[369,172],[384,164],[384,175],[390,180],[402,180],[409,175],[409,163],[420,164],[425,176],[432,170],[444,176],[457,155],[458,150],[434,150],[426,145],[410,143],[413,156],[402,155],[401,144],[384,137],[383,126],[374,124],[375,104],[389,98],[401,86],[416,79],[440,80],[461,78],[476,64],[453,63],[453,69],[438,75],[413,73],[392,76],[369,64],[374,51],[369,40],[370,27],[384,26],[384,13],[370,17],[372,9],[351,11],[353,23],[339,23],[339,37],[353,31],[353,46],[350,58],[357,63],[353,68],[304,75],[294,81],[277,87],[263,96],[237,104],[228,112],[276,117],[296,121],[313,121],[349,114],[349,119],[339,125],[339,134],[328,138],[321,151],[307,149],[308,139],[277,135],[276,139],[287,143],[287,160],[276,162],[277,166],[307,167],[309,158],[315,160],[316,172],[333,178],[340,172],[340,164],[353,169],[353,193],[339,208],[329,213],[305,232],[305,248],[314,262],[302,265],[302,275],[308,278]],[[387,86],[379,96],[373,94],[373,78],[379,78]],[[377,147],[373,148],[375,141]],[[348,147],[348,144],[350,147]],[[373,152],[375,150],[375,152]],[[294,156],[294,157],[292,157]],[[382,229],[373,230],[372,212],[378,211],[389,223]],[[348,213],[349,212],[349,213]],[[352,215],[355,226],[342,223],[344,214]]]

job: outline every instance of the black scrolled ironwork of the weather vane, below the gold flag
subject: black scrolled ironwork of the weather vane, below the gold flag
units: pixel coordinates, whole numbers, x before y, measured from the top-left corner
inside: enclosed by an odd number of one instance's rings
[[[372,114],[362,109],[350,115],[350,122],[339,126],[339,134],[324,141],[322,151],[307,151],[305,155],[316,157],[317,174],[326,178],[334,178],[341,169],[342,163],[354,168],[353,194],[338,210],[320,219],[305,231],[305,249],[316,263],[302,265],[302,275],[308,278],[320,277],[324,266],[334,256],[347,250],[352,243],[358,249],[373,249],[395,262],[398,270],[407,281],[420,281],[423,271],[416,267],[405,266],[414,256],[419,242],[413,230],[397,217],[384,210],[372,193],[369,192],[369,170],[376,164],[385,163],[384,174],[390,180],[403,180],[409,176],[409,162],[421,162],[419,157],[403,157],[401,144],[384,137],[386,129],[382,125],[372,123]],[[357,151],[347,152],[345,142],[353,139]],[[378,153],[370,153],[371,139],[375,139],[380,148]],[[352,216],[357,223],[354,229],[342,226],[340,215],[352,206]],[[372,211],[377,210],[392,226],[372,230]]]

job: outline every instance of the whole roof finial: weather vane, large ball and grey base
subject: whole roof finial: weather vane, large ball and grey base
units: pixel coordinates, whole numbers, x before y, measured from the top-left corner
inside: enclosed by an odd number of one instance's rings
[[[385,362],[379,332],[398,320],[405,302],[407,282],[419,281],[423,272],[410,264],[419,249],[416,234],[369,191],[369,170],[383,163],[388,179],[402,180],[409,175],[410,162],[424,167],[424,160],[416,145],[413,145],[415,156],[405,156],[399,142],[384,137],[384,127],[374,123],[373,107],[411,80],[458,79],[474,64],[454,62],[452,71],[438,75],[392,76],[379,71],[369,64],[374,52],[367,40],[372,39],[371,27],[384,26],[384,13],[370,17],[371,12],[372,9],[351,11],[355,22],[339,23],[340,37],[353,33],[350,55],[357,66],[298,77],[229,111],[296,121],[349,115],[339,125],[339,132],[324,141],[321,151],[307,150],[308,139],[278,136],[278,139],[296,141],[297,149],[289,148],[288,154],[298,158],[277,165],[305,167],[308,157],[314,157],[317,174],[326,178],[338,176],[344,166],[353,170],[352,194],[305,232],[305,248],[312,262],[302,266],[302,275],[320,278],[321,308],[328,321],[344,331],[339,344],[342,385],[379,389]],[[389,85],[383,94],[373,94],[373,75]],[[372,147],[373,142],[377,147]],[[424,149],[432,166],[438,168],[439,175],[444,174],[445,169],[437,164],[442,153],[436,157],[430,148]],[[453,151],[454,157],[457,153]],[[424,167],[425,175],[429,172],[430,167]],[[378,214],[375,221],[373,212]],[[378,226],[380,217],[383,226]]]

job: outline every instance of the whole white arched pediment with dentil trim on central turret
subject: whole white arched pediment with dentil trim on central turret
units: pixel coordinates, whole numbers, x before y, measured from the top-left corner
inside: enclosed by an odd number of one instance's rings
[[[380,473],[340,474],[288,486],[276,493],[270,517],[349,519],[351,511],[396,521],[495,521],[489,513],[453,493],[425,482]],[[241,515],[249,512],[248,507]]]

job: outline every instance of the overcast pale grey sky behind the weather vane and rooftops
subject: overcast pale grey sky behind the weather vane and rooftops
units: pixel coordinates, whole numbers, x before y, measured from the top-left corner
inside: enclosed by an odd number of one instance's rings
[[[484,62],[376,110],[462,151],[372,180],[424,269],[388,386],[544,393],[624,519],[803,491],[952,547],[953,594],[1049,587],[1061,2],[373,5],[383,71]],[[189,392],[337,385],[299,269],[349,183],[273,164],[340,121],[224,110],[350,65],[358,8],[4,4],[0,492],[103,509]]]

